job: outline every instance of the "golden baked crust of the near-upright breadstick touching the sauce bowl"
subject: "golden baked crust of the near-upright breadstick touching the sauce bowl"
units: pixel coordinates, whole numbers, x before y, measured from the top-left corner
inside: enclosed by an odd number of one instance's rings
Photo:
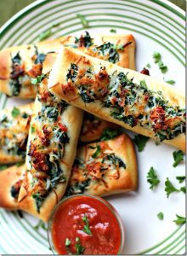
[[[53,102],[52,105],[53,107]],[[31,127],[36,127],[36,131],[32,132],[30,128],[28,144],[27,144],[27,156],[26,156],[26,170],[34,170],[33,166],[31,166],[28,152],[31,147],[31,142],[33,143],[34,138],[38,137],[43,127],[39,126],[41,124],[38,117],[41,116],[42,103],[38,100],[38,96],[35,101],[34,113],[31,120]],[[19,194],[19,207],[26,212],[31,213],[37,218],[41,218],[43,221],[47,222],[48,218],[54,208],[54,206],[59,202],[60,198],[65,194],[65,189],[71,176],[71,166],[76,157],[77,152],[77,141],[79,137],[79,133],[82,126],[82,110],[80,108],[75,108],[74,106],[68,105],[68,107],[62,112],[60,120],[63,122],[63,125],[67,127],[67,134],[70,138],[69,143],[65,143],[65,155],[62,159],[60,159],[60,166],[63,170],[63,174],[65,175],[65,183],[57,183],[54,189],[49,192],[46,196],[45,200],[40,207],[40,212],[37,212],[36,201],[30,194],[31,185],[31,174],[27,173],[24,182],[20,188]],[[59,121],[60,121],[59,120]],[[42,125],[45,125],[45,122],[42,122]],[[41,152],[45,152],[47,148],[44,147]],[[62,149],[63,150],[63,149]],[[39,173],[39,172],[38,172]]]

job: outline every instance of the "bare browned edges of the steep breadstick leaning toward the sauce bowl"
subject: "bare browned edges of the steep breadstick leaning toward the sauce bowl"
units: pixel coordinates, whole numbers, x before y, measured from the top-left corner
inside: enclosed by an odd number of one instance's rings
[[[32,118],[31,125],[34,125],[34,118],[37,116],[38,111],[42,108],[41,102],[36,99],[35,110]],[[30,184],[31,180],[28,178],[24,180],[23,185],[20,189],[19,195],[19,207],[26,212],[31,213],[37,218],[41,218],[43,221],[47,222],[51,214],[52,209],[58,203],[60,198],[65,194],[65,189],[69,177],[71,175],[71,166],[76,156],[77,152],[77,141],[79,133],[82,126],[82,110],[80,108],[75,108],[73,106],[68,106],[65,111],[62,113],[63,124],[66,125],[68,129],[68,137],[70,137],[70,142],[65,144],[65,156],[61,160],[61,165],[63,166],[63,173],[66,177],[66,183],[58,183],[56,189],[49,193],[40,207],[40,213],[37,212],[36,202],[31,195],[27,195],[26,184]],[[34,135],[29,135],[28,142],[31,141]],[[30,143],[28,143],[29,149]],[[29,166],[29,160],[26,159],[26,166]],[[29,177],[29,176],[28,176]]]

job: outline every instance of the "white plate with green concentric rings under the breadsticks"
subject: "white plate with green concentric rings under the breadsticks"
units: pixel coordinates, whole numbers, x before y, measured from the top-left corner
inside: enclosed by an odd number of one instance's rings
[[[38,35],[54,23],[53,37],[65,34],[80,35],[84,30],[77,13],[85,15],[89,21],[88,32],[108,33],[116,28],[117,33],[133,33],[137,41],[137,69],[140,71],[150,63],[150,74],[163,79],[158,67],[153,63],[152,54],[158,51],[168,66],[165,80],[174,79],[178,90],[184,90],[184,11],[172,3],[159,0],[39,0],[23,9],[1,28],[1,49],[12,45],[36,42]],[[173,85],[171,85],[173,86]],[[0,96],[0,108],[10,107],[24,101]],[[132,135],[132,134],[131,134]],[[184,216],[184,194],[173,193],[167,199],[164,191],[167,177],[176,187],[181,187],[176,176],[184,175],[184,163],[173,168],[175,148],[149,141],[139,160],[139,189],[129,195],[108,197],[122,217],[126,230],[124,254],[184,254],[184,225],[178,227],[173,219]],[[149,189],[146,181],[150,166],[156,168],[161,183],[155,191]],[[182,184],[184,186],[184,184]],[[50,254],[47,234],[40,228],[36,218],[24,213],[1,210],[0,253]],[[164,219],[156,217],[164,213]]]

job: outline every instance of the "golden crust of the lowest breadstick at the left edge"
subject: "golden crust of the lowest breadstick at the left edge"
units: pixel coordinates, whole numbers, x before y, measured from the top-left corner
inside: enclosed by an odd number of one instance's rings
[[[17,210],[18,201],[11,195],[12,186],[20,182],[26,172],[26,166],[11,166],[0,172],[0,207]]]

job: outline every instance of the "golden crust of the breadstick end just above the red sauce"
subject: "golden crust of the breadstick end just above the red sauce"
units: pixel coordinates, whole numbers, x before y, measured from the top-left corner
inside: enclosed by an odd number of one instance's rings
[[[104,165],[107,165],[105,155],[114,154],[116,158],[125,163],[126,167],[116,167],[115,169],[108,167],[107,171],[99,171],[100,173],[98,173],[97,166],[100,161],[97,158],[96,160],[90,158],[94,154],[96,146],[99,146],[101,155],[103,154]],[[70,188],[73,188],[77,181],[82,182],[90,178],[91,181],[84,191],[84,193],[90,195],[114,195],[137,189],[138,170],[136,154],[133,143],[126,134],[122,134],[107,142],[91,143],[78,148],[77,160],[81,160],[87,167],[82,168],[75,164],[72,169]],[[111,162],[108,165],[111,166]],[[102,166],[102,170],[105,168],[106,166]],[[82,170],[84,174],[82,174]]]

